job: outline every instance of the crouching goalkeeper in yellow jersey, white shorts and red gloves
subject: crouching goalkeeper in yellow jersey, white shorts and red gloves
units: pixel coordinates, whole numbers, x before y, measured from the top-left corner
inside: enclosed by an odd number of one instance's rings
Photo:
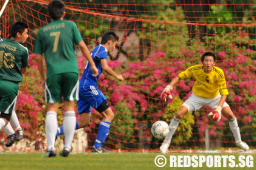
[[[180,120],[188,112],[201,109],[204,105],[208,105],[214,109],[208,114],[215,121],[221,120],[221,115],[224,115],[229,120],[229,126],[235,138],[236,146],[239,146],[244,151],[249,149],[249,146],[241,141],[240,129],[236,121],[236,117],[226,103],[227,90],[226,79],[222,69],[215,66],[216,56],[213,53],[206,52],[201,56],[202,65],[191,66],[184,72],[179,73],[168,86],[165,87],[161,94],[162,100],[172,98],[172,87],[181,79],[194,77],[196,80],[193,86],[193,93],[182,104],[177,114],[172,118],[169,124],[169,133],[160,146],[160,151],[166,153],[171,143],[171,138],[176,131]]]

